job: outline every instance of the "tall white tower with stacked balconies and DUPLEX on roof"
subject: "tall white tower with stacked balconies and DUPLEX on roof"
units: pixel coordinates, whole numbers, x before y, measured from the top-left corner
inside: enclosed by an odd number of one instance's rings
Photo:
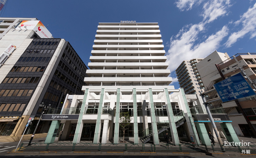
[[[125,140],[137,144],[151,139],[158,144],[169,132],[174,144],[193,139],[200,143],[199,135],[210,145],[202,99],[169,85],[172,78],[158,23],[99,23],[95,38],[85,93],[67,95],[62,112],[44,115],[43,120],[52,120],[45,143],[54,142],[56,129],[61,131],[59,140],[119,143],[120,118],[128,112],[131,123]],[[194,123],[190,108],[205,117],[196,117]],[[197,134],[195,124],[202,133]],[[207,129],[213,132],[208,125]]]

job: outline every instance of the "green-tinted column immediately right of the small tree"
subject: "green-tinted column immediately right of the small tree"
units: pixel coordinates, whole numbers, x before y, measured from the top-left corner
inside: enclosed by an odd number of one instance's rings
[[[133,132],[134,132],[134,144],[139,143],[138,135],[138,120],[137,120],[137,99],[136,99],[136,88],[133,88]]]

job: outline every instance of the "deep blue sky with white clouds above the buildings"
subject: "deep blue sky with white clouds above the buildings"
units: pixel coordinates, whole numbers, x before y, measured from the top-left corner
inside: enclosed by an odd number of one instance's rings
[[[182,60],[215,50],[256,52],[256,0],[9,0],[1,17],[41,20],[54,38],[71,43],[85,65],[98,22],[158,22],[175,88],[174,70]]]

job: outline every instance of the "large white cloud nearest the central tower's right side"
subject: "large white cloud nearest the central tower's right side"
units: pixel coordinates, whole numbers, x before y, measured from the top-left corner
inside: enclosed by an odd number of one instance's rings
[[[166,54],[171,72],[176,70],[183,60],[206,57],[220,46],[220,42],[228,34],[228,28],[224,26],[204,42],[195,44],[198,34],[202,30],[204,30],[204,24],[194,24],[187,31],[182,29],[179,32],[179,39],[171,38],[170,49]]]

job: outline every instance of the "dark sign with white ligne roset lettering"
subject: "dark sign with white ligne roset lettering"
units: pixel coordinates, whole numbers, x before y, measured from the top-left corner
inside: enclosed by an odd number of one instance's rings
[[[42,120],[78,120],[79,115],[46,114]]]

